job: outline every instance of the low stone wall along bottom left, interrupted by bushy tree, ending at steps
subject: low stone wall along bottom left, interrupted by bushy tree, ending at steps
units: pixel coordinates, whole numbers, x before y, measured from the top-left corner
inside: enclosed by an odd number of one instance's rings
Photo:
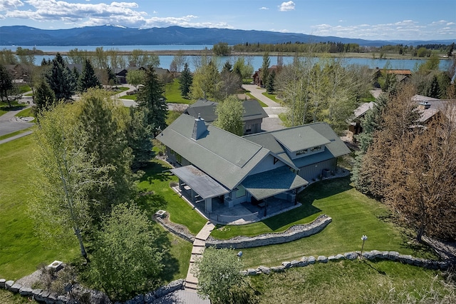
[[[167,295],[168,293],[172,293],[175,290],[183,289],[184,286],[184,280],[174,280],[168,285],[162,286],[157,290],[151,291],[150,293],[146,293],[145,295],[137,295],[135,298],[126,301],[125,304],[150,304],[157,300],[157,298],[161,298],[162,296]],[[28,286],[23,286],[19,283],[15,283],[14,280],[6,280],[0,278],[0,288],[9,290],[12,293],[19,293],[24,297],[34,298],[35,300],[46,304],[66,304],[68,301],[70,301],[70,298],[67,295],[57,295],[56,293],[49,293],[46,290],[32,289]],[[74,303],[73,300],[71,300],[71,303]]]

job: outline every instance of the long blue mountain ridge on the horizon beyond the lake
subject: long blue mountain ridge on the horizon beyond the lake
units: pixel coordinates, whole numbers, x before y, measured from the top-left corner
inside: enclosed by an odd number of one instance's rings
[[[361,46],[398,44],[397,41],[370,41],[333,36],[279,33],[274,31],[244,31],[238,29],[195,29],[180,26],[152,29],[132,29],[124,26],[88,26],[74,29],[35,29],[28,26],[0,26],[2,46],[125,46],[125,45],[214,45],[281,44],[286,42],[342,42]],[[418,45],[428,42],[451,44],[453,41],[400,41]]]

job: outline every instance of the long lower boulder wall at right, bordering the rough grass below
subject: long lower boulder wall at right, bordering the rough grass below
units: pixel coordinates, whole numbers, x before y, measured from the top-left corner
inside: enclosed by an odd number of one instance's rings
[[[287,268],[293,267],[305,267],[307,265],[315,264],[315,263],[328,263],[331,261],[337,260],[356,260],[359,258],[361,253],[359,251],[350,252],[350,253],[343,253],[338,255],[330,255],[326,257],[325,255],[318,255],[318,257],[311,256],[304,256],[300,260],[291,260],[282,262],[280,266],[274,267],[266,267],[266,266],[259,266],[258,268],[249,268],[248,270],[242,270],[241,273],[243,275],[259,275],[261,273],[269,274],[272,272],[281,272]],[[438,261],[438,260],[426,260],[423,258],[414,258],[412,255],[401,255],[397,251],[365,251],[363,252],[363,258],[367,260],[374,260],[374,259],[382,259],[382,260],[395,260],[400,263],[416,265],[424,268],[430,269],[440,269],[446,270],[450,268],[452,263],[450,260],[445,261]]]

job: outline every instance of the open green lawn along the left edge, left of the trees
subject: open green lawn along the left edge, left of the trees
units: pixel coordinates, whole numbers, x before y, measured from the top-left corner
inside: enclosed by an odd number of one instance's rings
[[[0,145],[0,277],[17,280],[33,273],[40,263],[68,261],[78,255],[75,245],[51,248],[33,233],[33,223],[26,207],[28,159],[32,136],[25,136]]]

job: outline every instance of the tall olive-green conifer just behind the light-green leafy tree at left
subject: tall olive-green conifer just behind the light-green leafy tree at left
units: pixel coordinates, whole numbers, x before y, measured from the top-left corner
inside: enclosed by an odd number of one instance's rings
[[[86,153],[93,156],[96,166],[108,168],[100,178],[107,176],[113,181],[87,193],[93,201],[90,211],[98,218],[109,213],[111,206],[127,202],[133,196],[133,156],[125,136],[125,113],[108,93],[90,89],[81,96],[80,104],[78,119],[88,135]]]

